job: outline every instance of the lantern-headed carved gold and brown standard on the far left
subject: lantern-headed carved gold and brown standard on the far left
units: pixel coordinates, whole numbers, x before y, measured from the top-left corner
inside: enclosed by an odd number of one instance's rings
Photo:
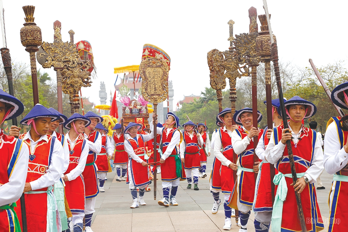
[[[30,55],[31,80],[33,85],[34,105],[39,103],[38,77],[36,69],[35,53],[39,50],[38,47],[42,43],[41,29],[34,23],[34,6],[22,7],[25,14],[24,27],[21,28],[21,42],[25,50]]]

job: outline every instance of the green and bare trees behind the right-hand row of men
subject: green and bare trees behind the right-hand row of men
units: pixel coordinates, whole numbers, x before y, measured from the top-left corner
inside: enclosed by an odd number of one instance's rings
[[[339,61],[334,64],[318,68],[319,73],[326,82],[330,90],[334,89],[339,84],[348,81],[348,71],[343,66],[344,62]],[[310,119],[305,120],[305,125],[308,126],[310,120],[318,122],[318,131],[322,133],[326,130],[327,121],[338,113],[335,111],[330,99],[327,97],[323,87],[318,81],[311,67],[297,67],[290,63],[279,62],[280,76],[284,97],[290,99],[297,95],[310,102],[313,102],[317,107],[317,113]],[[258,110],[262,113],[263,119],[259,123],[259,127],[267,126],[266,105],[266,85],[264,81],[264,65],[258,66]],[[274,70],[271,70],[271,95],[272,99],[278,97],[278,90],[275,81]],[[227,85],[227,88],[229,86]],[[237,101],[236,110],[244,107],[252,108],[252,88],[251,77],[243,77],[237,80]],[[222,108],[231,107],[229,99],[229,89],[223,90]],[[195,102],[184,103],[176,114],[180,118],[180,123],[187,121],[186,115],[195,123],[204,123],[206,121],[209,133],[217,128],[216,115],[219,112],[216,99],[216,92],[211,87],[205,87],[201,92],[201,98]]]

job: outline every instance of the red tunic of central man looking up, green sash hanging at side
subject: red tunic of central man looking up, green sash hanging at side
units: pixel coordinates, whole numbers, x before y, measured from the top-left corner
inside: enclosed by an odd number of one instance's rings
[[[174,127],[168,133],[168,136],[167,136],[167,130],[168,128],[166,127],[163,129],[163,132],[162,132],[163,153],[166,152],[167,147],[172,140],[174,131],[179,131],[180,133],[180,130]],[[179,150],[178,150],[178,147],[175,146],[172,153],[169,155],[169,157],[165,160],[164,163],[162,163],[162,166],[161,166],[162,181],[174,181],[177,178],[181,178],[181,176],[176,175],[175,156],[177,155],[179,155]]]

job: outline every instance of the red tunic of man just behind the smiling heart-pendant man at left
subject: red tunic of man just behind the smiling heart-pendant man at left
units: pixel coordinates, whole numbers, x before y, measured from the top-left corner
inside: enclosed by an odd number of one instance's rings
[[[99,132],[92,130],[88,135],[88,140],[95,143],[97,141]],[[93,151],[88,152],[88,157],[86,161],[85,170],[82,172],[84,177],[85,185],[85,195],[86,199],[94,198],[99,193],[99,188],[97,184],[97,168],[95,166],[95,160],[97,159],[97,154]]]

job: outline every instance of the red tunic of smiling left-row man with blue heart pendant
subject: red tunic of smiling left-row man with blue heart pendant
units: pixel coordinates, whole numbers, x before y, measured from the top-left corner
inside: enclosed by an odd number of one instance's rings
[[[73,147],[70,146],[70,141],[68,140],[70,161],[68,170],[66,170],[64,175],[76,168],[80,160],[81,152],[86,145],[88,146],[86,141],[80,136]],[[76,179],[65,182],[65,196],[72,213],[85,212],[85,183],[82,175],[78,176]]]

